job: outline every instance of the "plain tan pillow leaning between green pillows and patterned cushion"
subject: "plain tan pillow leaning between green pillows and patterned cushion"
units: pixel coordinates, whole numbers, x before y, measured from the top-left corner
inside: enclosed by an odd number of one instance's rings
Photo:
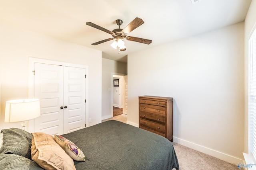
[[[75,170],[74,161],[56,143],[54,137],[42,132],[32,133],[31,158],[47,170]]]

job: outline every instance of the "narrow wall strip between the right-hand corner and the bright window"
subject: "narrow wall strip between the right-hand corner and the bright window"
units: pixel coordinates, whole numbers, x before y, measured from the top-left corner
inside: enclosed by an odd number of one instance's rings
[[[244,21],[244,152],[248,153],[248,42],[253,29],[256,29],[256,0],[252,0]]]

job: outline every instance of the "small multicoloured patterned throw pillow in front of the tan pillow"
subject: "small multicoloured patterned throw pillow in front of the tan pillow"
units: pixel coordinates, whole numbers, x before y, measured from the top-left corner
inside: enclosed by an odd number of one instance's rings
[[[74,143],[60,135],[54,135],[54,138],[60,147],[62,147],[62,149],[64,149],[72,159],[77,161],[85,161],[84,153]]]

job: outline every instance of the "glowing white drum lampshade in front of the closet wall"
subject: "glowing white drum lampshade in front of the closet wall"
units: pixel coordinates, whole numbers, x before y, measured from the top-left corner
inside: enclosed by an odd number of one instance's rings
[[[39,99],[9,100],[5,106],[5,122],[28,121],[40,116]]]

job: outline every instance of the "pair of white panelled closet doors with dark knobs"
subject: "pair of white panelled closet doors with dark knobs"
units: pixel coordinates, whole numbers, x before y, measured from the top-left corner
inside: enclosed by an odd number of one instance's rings
[[[64,134],[85,127],[85,68],[34,63],[34,98],[41,115],[34,131]]]

